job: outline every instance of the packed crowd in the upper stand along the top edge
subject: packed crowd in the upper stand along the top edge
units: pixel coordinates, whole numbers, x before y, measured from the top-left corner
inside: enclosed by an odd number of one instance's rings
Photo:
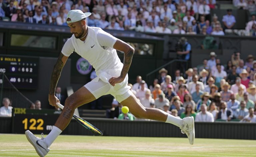
[[[233,4],[251,15],[256,12],[252,0],[233,0]],[[224,35],[225,29],[233,28],[236,18],[231,9],[223,17],[211,16],[215,5],[216,0],[0,0],[0,20],[67,25],[68,11],[79,9],[92,13],[86,19],[88,26],[102,29]],[[255,36],[255,16],[245,30]]]

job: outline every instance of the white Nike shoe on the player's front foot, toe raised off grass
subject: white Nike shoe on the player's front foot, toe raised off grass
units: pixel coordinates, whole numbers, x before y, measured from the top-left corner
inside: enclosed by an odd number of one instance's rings
[[[25,131],[25,134],[26,134],[28,141],[34,146],[37,154],[40,157],[44,157],[45,155],[47,155],[47,153],[50,151],[50,149],[45,144],[45,138],[44,138],[43,133],[41,134],[42,138],[36,137],[29,130]]]

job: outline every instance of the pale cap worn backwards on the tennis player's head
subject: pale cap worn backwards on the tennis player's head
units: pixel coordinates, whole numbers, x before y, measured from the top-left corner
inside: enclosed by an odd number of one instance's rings
[[[67,21],[67,24],[83,20],[84,18],[87,18],[90,15],[92,15],[92,13],[83,13],[81,10],[70,10],[68,12],[66,20],[68,18],[70,18],[71,20]]]

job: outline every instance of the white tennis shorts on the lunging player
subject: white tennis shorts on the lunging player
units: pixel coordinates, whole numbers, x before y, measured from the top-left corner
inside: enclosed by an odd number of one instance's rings
[[[121,70],[113,69],[100,71],[99,76],[88,82],[84,87],[88,89],[96,99],[103,95],[111,94],[119,103],[121,103],[132,95],[130,86],[127,85],[128,75],[126,75],[123,82],[117,83],[115,86],[112,86],[108,82],[111,77],[120,76],[120,73]]]

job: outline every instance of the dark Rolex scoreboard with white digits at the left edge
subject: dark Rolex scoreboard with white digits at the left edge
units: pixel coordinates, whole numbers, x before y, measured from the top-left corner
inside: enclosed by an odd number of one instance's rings
[[[38,67],[39,57],[0,54],[0,73],[18,89],[37,89]]]

